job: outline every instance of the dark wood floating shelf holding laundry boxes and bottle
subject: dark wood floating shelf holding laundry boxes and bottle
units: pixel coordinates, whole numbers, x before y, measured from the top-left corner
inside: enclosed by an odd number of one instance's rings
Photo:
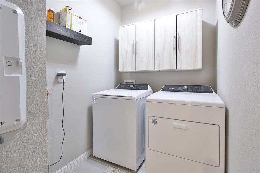
[[[92,38],[46,20],[46,36],[78,45],[91,45]]]

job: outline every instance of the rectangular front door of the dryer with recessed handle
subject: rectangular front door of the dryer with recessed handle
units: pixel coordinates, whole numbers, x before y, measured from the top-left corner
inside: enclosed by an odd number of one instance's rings
[[[220,127],[149,116],[149,149],[219,166]]]

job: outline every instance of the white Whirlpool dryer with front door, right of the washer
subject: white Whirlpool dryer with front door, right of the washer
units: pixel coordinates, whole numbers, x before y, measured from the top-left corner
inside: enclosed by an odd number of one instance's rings
[[[225,104],[210,86],[164,85],[146,99],[146,172],[224,172]]]

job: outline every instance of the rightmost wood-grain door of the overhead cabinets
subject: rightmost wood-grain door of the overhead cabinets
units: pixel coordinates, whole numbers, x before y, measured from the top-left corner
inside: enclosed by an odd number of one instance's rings
[[[177,15],[177,69],[202,68],[202,10]]]

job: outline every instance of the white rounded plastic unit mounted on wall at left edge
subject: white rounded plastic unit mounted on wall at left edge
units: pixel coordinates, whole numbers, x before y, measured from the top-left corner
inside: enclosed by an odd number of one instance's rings
[[[22,10],[0,1],[0,133],[26,121],[25,23]]]

